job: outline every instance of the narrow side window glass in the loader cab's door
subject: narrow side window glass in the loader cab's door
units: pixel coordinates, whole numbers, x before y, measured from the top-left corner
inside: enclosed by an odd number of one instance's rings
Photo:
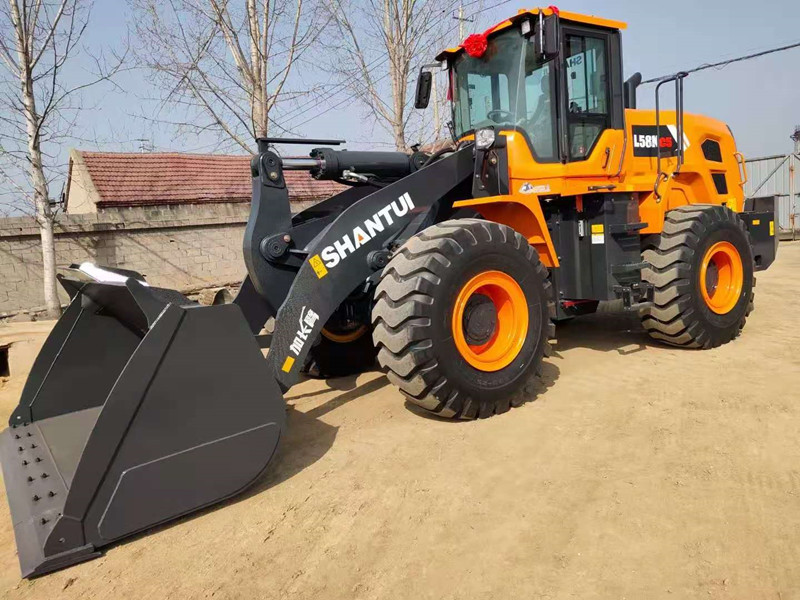
[[[605,39],[565,36],[567,128],[570,160],[586,159],[609,127],[609,91]]]

